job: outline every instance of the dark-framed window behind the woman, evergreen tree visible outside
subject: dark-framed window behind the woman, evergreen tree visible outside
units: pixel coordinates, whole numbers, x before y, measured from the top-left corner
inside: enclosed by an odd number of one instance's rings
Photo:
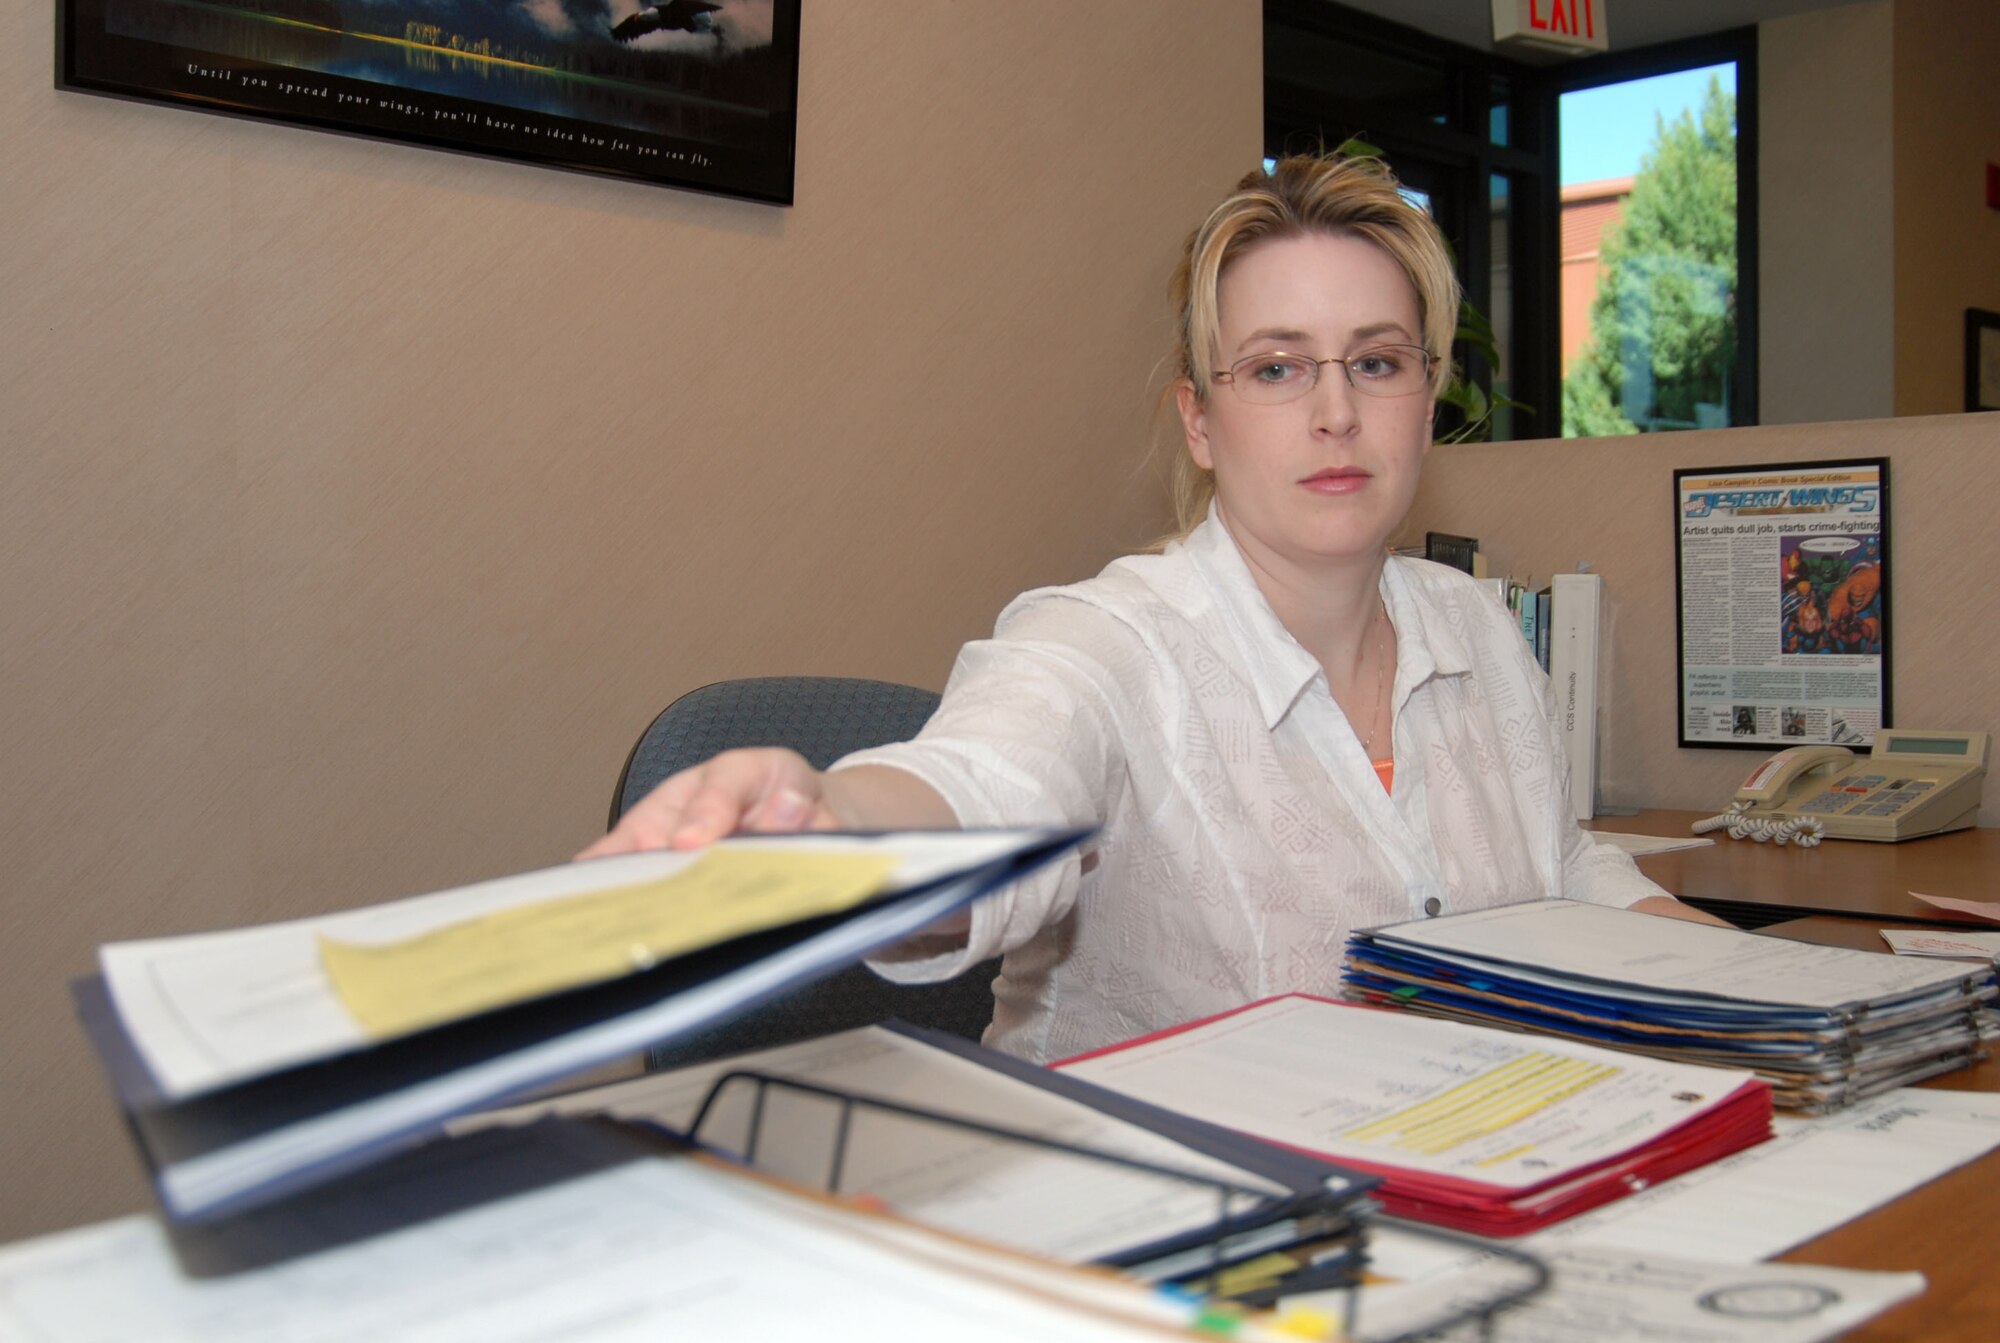
[[[1488,338],[1462,340],[1454,350],[1466,384],[1476,388],[1470,400],[1494,408],[1482,436],[1754,424],[1756,200],[1736,190],[1736,182],[1756,182],[1754,70],[1754,30],[1528,66],[1338,4],[1266,0],[1264,152],[1362,140],[1428,200],[1458,256],[1468,326],[1490,326]],[[1704,182],[1734,216],[1726,224],[1710,220],[1702,246],[1674,232],[1692,228],[1682,218],[1648,216],[1644,230],[1624,226],[1628,208],[1656,216],[1662,202],[1678,210],[1688,196],[1686,182],[1662,174],[1638,186],[1640,162],[1668,148],[1654,146],[1650,104],[1638,152],[1616,160],[1628,170],[1576,176],[1594,172],[1576,164],[1606,162],[1572,160],[1592,140],[1584,128],[1594,126],[1584,118],[1598,116],[1606,100],[1644,94],[1658,76],[1668,76],[1668,88],[1698,92],[1686,104],[1690,136],[1702,140],[1706,166],[1728,170],[1726,188],[1714,174]],[[1702,102],[1710,78],[1724,100],[1728,134],[1710,134],[1716,116]],[[1678,126],[1682,108],[1670,112]],[[1666,154],[1670,172],[1680,172],[1676,136],[1674,154]],[[1606,178],[1634,182],[1606,198]],[[1600,194],[1578,190],[1572,202],[1570,188],[1584,182],[1598,182]],[[1602,228],[1610,214],[1620,228]],[[1588,226],[1600,228],[1586,236]],[[1652,246],[1662,238],[1666,246]],[[1582,274],[1566,278],[1566,258],[1576,258],[1568,270]],[[1582,286],[1582,298],[1566,294],[1566,286]],[[1578,350],[1588,340],[1598,340],[1590,378],[1578,372]],[[1440,430],[1456,424],[1462,418],[1446,410]]]

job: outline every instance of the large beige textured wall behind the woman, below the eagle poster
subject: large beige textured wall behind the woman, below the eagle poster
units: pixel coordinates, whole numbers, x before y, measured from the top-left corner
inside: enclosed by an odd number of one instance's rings
[[[0,22],[0,1239],[142,1205],[116,937],[556,861],[716,677],[942,683],[1164,524],[1254,0],[808,4],[780,210],[56,94]]]

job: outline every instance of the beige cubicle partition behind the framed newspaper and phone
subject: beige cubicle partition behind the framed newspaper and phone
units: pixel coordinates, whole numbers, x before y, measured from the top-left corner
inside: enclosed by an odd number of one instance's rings
[[[1756,755],[1676,745],[1674,470],[1820,458],[1890,462],[1894,723],[2000,733],[2000,586],[1976,540],[2000,496],[2000,416],[1438,448],[1406,532],[1476,536],[1496,574],[1538,586],[1602,574],[1600,805],[1720,811]],[[2000,785],[1980,823],[2000,825]]]

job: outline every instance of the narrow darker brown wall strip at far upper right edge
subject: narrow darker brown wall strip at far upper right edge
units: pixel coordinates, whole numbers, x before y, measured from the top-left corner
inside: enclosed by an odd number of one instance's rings
[[[2000,4],[1896,4],[1896,414],[1966,406],[1966,308],[2000,312]]]

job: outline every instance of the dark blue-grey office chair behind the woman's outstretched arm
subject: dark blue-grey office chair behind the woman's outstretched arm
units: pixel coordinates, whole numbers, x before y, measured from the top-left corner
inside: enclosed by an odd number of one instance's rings
[[[764,675],[690,689],[660,709],[632,745],[612,793],[610,823],[660,779],[716,751],[788,745],[824,769],[864,745],[914,737],[936,707],[938,695],[928,689],[838,675]],[[998,957],[948,983],[898,985],[866,965],[850,965],[696,1039],[648,1049],[646,1065],[680,1067],[888,1017],[978,1039],[992,1021],[996,973]]]

